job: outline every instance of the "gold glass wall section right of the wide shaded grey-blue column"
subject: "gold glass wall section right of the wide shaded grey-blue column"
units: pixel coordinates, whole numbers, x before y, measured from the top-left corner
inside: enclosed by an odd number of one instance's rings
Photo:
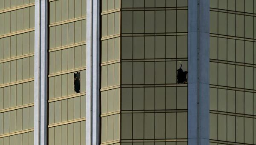
[[[255,0],[210,0],[210,145],[256,144],[255,14]]]

